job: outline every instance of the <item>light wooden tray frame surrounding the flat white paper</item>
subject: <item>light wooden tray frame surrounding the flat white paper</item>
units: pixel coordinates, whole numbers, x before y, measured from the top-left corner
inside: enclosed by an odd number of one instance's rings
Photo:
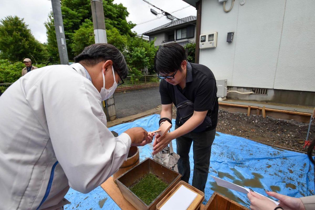
[[[187,188],[191,189],[192,191],[196,192],[198,195],[195,198],[195,200],[190,204],[190,206],[187,208],[187,210],[198,210],[200,209],[200,205],[203,202],[204,199],[204,193],[197,188],[193,187],[192,185],[187,184],[184,181],[178,182],[178,184],[171,190],[169,193],[163,197],[163,199],[157,204],[157,210],[160,210],[160,208],[169,200],[169,198],[174,195],[174,193],[180,188],[181,185],[186,186]]]

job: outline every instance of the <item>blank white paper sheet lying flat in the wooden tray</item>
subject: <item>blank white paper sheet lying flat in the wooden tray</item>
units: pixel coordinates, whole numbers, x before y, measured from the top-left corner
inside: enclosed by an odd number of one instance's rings
[[[184,185],[181,185],[160,209],[186,210],[196,197],[197,193],[187,189]]]

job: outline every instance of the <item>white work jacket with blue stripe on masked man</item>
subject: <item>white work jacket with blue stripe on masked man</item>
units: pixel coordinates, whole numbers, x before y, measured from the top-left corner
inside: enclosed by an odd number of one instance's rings
[[[56,209],[69,186],[88,193],[127,159],[131,139],[106,127],[81,64],[35,69],[0,97],[0,209]]]

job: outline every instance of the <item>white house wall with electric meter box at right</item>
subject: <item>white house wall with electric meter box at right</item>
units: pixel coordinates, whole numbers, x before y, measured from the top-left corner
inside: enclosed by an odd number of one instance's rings
[[[218,40],[200,50],[199,63],[228,86],[315,91],[313,0],[239,1],[228,13],[217,0],[202,1],[201,34],[218,32]]]

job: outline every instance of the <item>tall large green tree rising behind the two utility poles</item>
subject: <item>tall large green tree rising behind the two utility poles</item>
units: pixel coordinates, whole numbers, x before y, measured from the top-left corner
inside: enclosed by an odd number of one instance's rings
[[[106,31],[116,28],[121,35],[135,36],[135,33],[131,31],[135,24],[126,20],[129,15],[126,7],[124,7],[121,3],[113,3],[113,0],[103,0],[103,7]],[[73,60],[73,57],[78,52],[78,49],[82,48],[82,46],[75,47],[75,45],[73,44],[74,38],[78,40],[78,37],[74,36],[74,33],[83,34],[83,28],[88,28],[90,30],[90,23],[87,21],[88,19],[92,22],[90,0],[62,0],[61,12],[64,15],[63,24],[65,36],[66,39],[68,39],[66,41],[68,56],[70,60]],[[81,25],[84,25],[83,28],[81,27]],[[45,22],[45,27],[47,33],[47,45],[49,49],[50,61],[59,62],[59,54],[52,13],[49,14],[48,20]],[[81,30],[78,31],[80,28]],[[84,33],[84,35],[86,35],[86,33]],[[88,40],[85,41],[85,43],[89,43],[89,41],[90,37]]]

